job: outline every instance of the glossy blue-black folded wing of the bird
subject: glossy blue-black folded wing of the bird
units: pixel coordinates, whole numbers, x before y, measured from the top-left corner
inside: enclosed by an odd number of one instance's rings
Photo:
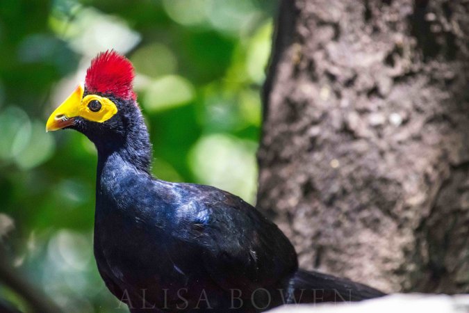
[[[199,218],[190,220],[190,239],[197,241],[206,271],[220,287],[254,291],[296,271],[295,249],[277,225],[231,193],[190,188]]]

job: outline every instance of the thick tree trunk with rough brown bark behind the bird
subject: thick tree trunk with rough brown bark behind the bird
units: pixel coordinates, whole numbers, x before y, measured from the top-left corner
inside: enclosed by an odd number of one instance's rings
[[[258,207],[300,265],[469,291],[469,1],[284,0]]]

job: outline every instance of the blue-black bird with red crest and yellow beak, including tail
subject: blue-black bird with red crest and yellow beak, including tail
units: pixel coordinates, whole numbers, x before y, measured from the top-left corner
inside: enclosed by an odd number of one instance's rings
[[[300,269],[279,227],[236,195],[153,177],[134,76],[125,56],[101,52],[46,124],[46,131],[79,131],[97,149],[94,257],[131,313],[264,312],[384,296]]]

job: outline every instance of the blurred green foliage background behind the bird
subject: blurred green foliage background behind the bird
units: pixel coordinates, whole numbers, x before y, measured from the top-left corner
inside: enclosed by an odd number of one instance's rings
[[[153,172],[254,202],[267,0],[1,0],[0,244],[65,312],[126,312],[92,256],[96,152],[44,132],[99,51],[126,54],[154,147]],[[1,223],[0,223],[1,225]],[[0,286],[0,297],[24,307]]]

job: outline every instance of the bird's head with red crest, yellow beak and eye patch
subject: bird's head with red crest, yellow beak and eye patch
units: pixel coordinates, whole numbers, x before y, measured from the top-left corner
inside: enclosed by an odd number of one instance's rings
[[[51,114],[46,131],[76,129],[96,145],[124,138],[129,125],[141,120],[133,77],[133,66],[124,56],[115,51],[99,54],[85,82]]]

